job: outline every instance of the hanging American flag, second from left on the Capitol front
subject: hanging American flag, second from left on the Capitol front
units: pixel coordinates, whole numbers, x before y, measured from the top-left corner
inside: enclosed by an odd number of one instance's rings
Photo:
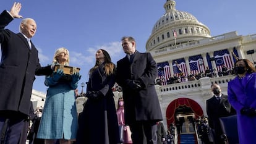
[[[178,66],[175,64],[175,61],[177,61]],[[184,72],[184,75],[187,76],[186,62],[183,58],[173,60],[173,73],[174,73],[174,75],[178,76],[178,74],[181,73],[181,70],[179,70],[179,68],[182,70],[182,72]]]

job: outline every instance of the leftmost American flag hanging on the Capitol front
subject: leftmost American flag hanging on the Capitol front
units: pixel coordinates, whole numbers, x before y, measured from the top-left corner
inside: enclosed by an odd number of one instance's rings
[[[158,78],[162,78],[163,85],[167,84],[167,80],[171,77],[171,70],[168,62],[161,62],[157,64],[158,67]]]

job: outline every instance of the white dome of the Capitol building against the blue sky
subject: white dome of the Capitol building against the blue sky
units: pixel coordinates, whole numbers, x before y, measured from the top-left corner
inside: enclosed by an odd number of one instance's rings
[[[147,51],[211,37],[209,28],[194,15],[176,10],[174,0],[166,0],[164,9],[165,14],[156,21],[148,38]]]

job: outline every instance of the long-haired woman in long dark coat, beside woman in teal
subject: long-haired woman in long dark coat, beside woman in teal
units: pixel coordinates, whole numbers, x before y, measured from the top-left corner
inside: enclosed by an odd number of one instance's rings
[[[77,144],[120,143],[119,129],[112,87],[116,66],[104,49],[95,54],[95,66],[90,69],[86,101],[79,114]]]

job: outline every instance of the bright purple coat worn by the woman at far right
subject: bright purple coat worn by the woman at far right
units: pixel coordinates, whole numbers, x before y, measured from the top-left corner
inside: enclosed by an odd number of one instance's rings
[[[239,143],[256,142],[256,116],[241,114],[244,107],[256,109],[256,73],[247,74],[245,78],[234,78],[228,83],[228,100],[237,111],[237,129]]]

